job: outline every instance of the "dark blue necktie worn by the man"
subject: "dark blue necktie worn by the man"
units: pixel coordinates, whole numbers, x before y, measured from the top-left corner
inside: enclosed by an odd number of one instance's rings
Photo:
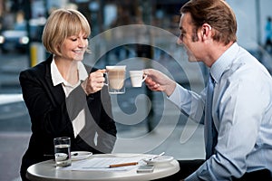
[[[205,137],[205,147],[206,147],[206,159],[214,154],[214,148],[217,145],[218,132],[215,128],[212,119],[212,100],[213,100],[213,90],[214,90],[214,80],[209,75],[209,81],[207,85],[207,96],[205,105],[205,127],[204,127],[204,137]]]

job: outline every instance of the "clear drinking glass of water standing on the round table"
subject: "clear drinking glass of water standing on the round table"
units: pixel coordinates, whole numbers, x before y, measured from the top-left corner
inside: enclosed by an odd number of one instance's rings
[[[53,138],[53,146],[56,167],[71,166],[71,139],[69,137]]]

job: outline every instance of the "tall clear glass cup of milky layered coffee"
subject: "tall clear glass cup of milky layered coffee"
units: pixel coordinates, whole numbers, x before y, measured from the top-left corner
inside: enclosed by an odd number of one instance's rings
[[[125,75],[126,66],[116,65],[116,66],[106,66],[106,76],[108,90],[110,94],[122,94],[125,93]]]

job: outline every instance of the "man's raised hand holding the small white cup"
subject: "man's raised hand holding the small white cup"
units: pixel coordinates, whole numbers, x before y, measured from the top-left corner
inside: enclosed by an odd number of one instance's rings
[[[167,96],[170,96],[176,88],[176,82],[171,80],[168,76],[160,71],[154,69],[143,70],[148,77],[145,84],[149,89],[155,91],[164,91]]]

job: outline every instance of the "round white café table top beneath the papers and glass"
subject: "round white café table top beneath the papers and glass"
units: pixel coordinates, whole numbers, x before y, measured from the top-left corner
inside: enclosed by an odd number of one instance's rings
[[[98,154],[92,157],[130,157],[135,154]],[[151,155],[137,154],[138,156]],[[92,158],[91,157],[91,158]],[[73,163],[72,163],[73,164]],[[53,160],[47,160],[28,167],[26,176],[32,181],[121,181],[121,180],[152,180],[171,176],[180,170],[179,162],[175,159],[169,163],[155,165],[151,173],[137,173],[137,167],[126,171],[78,171],[56,169]]]

